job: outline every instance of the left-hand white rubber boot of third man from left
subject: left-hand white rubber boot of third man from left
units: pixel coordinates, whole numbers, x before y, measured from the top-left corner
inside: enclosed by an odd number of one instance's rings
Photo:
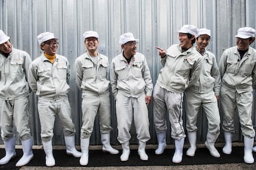
[[[88,164],[89,144],[90,144],[90,137],[85,139],[80,139],[80,147],[82,150],[82,154],[79,162],[80,162],[80,165],[82,166],[85,166]]]

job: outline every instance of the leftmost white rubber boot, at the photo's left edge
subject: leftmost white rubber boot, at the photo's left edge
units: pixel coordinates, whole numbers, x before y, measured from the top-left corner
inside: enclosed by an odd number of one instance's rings
[[[7,164],[16,156],[15,152],[15,137],[9,140],[4,140],[4,148],[6,150],[6,156],[0,160],[0,164]]]

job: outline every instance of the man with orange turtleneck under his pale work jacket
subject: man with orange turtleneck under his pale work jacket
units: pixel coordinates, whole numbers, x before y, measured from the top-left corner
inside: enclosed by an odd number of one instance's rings
[[[59,116],[64,131],[66,152],[77,158],[75,148],[75,125],[72,123],[68,99],[70,66],[66,57],[58,55],[58,38],[45,32],[37,36],[43,54],[33,60],[28,73],[28,83],[38,96],[38,113],[41,124],[41,140],[46,154],[46,166],[54,166],[53,128]]]

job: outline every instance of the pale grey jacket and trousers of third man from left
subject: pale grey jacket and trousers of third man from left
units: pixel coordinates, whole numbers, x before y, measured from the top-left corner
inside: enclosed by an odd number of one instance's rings
[[[110,120],[110,99],[108,57],[98,54],[98,63],[95,64],[87,53],[80,55],[75,60],[75,81],[82,89],[83,125],[81,139],[91,136],[98,114],[101,134],[109,134],[112,127]]]

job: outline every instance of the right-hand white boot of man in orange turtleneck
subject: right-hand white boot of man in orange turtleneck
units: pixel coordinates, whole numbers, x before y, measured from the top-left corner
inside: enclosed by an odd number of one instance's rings
[[[81,157],[81,152],[75,148],[75,136],[64,136],[67,155],[73,155],[75,158]]]

